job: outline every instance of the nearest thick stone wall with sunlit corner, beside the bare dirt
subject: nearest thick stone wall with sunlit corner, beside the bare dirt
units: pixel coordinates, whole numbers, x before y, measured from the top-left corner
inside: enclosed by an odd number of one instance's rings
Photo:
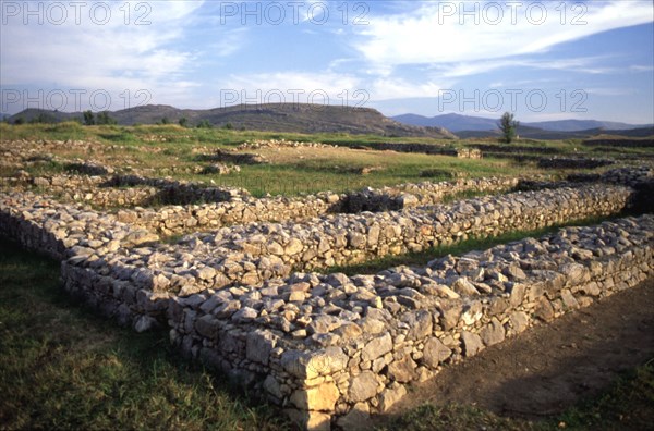
[[[443,366],[654,275],[654,217],[568,227],[377,275],[294,274],[173,298],[170,337],[302,427],[384,412]]]

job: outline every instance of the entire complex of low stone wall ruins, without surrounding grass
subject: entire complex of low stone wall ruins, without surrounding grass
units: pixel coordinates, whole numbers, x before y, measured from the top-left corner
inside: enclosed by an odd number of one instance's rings
[[[7,167],[39,161],[23,144],[3,143]],[[182,355],[312,430],[356,428],[412,382],[654,275],[649,167],[263,198],[69,168],[4,177],[0,235],[60,260],[65,291],[104,316],[167,329]],[[482,196],[455,199],[470,192]],[[590,218],[610,220],[376,274],[329,270]]]

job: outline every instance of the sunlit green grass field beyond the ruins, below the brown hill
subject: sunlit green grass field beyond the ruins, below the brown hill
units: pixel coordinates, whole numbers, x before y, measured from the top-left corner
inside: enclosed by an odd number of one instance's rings
[[[83,139],[99,143],[88,152],[71,148],[56,149],[56,156],[63,159],[92,158],[116,168],[131,167],[144,170],[147,176],[172,176],[215,184],[218,186],[242,187],[254,196],[266,194],[300,196],[318,192],[351,192],[362,187],[395,186],[401,183],[426,181],[424,171],[441,172],[431,181],[450,180],[461,174],[468,177],[516,176],[524,174],[562,174],[564,171],[537,169],[534,163],[519,163],[507,158],[484,158],[482,160],[458,159],[447,156],[423,153],[401,153],[393,151],[350,150],[347,146],[365,146],[375,143],[421,143],[438,146],[465,147],[480,139],[438,140],[433,138],[397,138],[374,135],[270,133],[219,128],[184,128],[178,125],[140,126],[82,126],[76,123],[0,124],[2,139]],[[323,141],[338,144],[338,148],[284,148],[282,150],[259,148],[249,150],[264,155],[269,164],[241,165],[240,173],[228,175],[202,175],[184,172],[193,168],[206,167],[198,161],[197,150],[206,147],[207,152],[218,148],[233,148],[254,139],[287,139],[300,141]],[[481,140],[483,141],[483,140]],[[499,146],[499,144],[497,144]],[[524,146],[555,147],[564,152],[572,151],[574,141],[525,141]],[[630,149],[630,151],[639,151]],[[635,152],[634,152],[635,153]],[[177,168],[173,170],[172,168]],[[362,168],[376,168],[368,174],[361,174]],[[38,175],[61,172],[61,167],[41,163],[28,167],[28,172]],[[3,174],[12,174],[4,172]],[[213,181],[213,183],[211,183]]]

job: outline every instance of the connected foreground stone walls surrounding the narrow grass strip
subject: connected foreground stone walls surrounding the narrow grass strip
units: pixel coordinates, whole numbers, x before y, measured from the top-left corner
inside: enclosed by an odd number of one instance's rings
[[[606,175],[633,183],[650,173]],[[158,237],[138,223],[0,193],[0,235],[62,259],[64,288],[104,315],[137,331],[168,324],[185,355],[241,378],[303,427],[351,428],[443,365],[652,276],[654,217],[568,227],[376,275],[293,271],[607,216],[633,196],[621,185],[579,183],[257,222],[153,245]]]

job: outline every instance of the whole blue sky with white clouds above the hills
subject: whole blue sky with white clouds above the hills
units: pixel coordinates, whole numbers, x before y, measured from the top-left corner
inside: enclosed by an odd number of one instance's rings
[[[0,112],[293,102],[654,123],[652,1],[0,0]]]

